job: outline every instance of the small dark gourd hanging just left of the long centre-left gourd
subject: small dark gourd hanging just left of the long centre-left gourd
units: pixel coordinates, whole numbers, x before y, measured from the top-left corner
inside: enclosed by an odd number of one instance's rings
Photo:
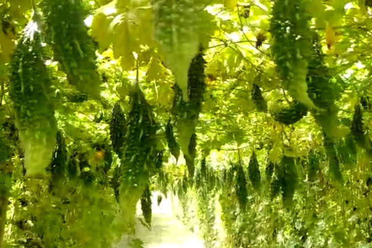
[[[125,115],[119,101],[115,103],[112,109],[109,130],[112,148],[119,157],[122,157],[126,128]]]

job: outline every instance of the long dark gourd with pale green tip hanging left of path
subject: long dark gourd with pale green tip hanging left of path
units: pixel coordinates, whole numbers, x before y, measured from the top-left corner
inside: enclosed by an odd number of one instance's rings
[[[133,221],[136,203],[154,169],[158,125],[150,105],[136,82],[130,93],[124,156],[120,169],[119,203]],[[133,223],[131,223],[133,224]]]

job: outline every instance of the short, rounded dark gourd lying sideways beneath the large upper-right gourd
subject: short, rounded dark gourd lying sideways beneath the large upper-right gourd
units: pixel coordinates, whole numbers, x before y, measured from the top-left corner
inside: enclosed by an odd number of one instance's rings
[[[277,105],[269,109],[271,117],[277,122],[290,125],[301,120],[307,113],[308,108],[300,102],[292,102],[289,105]]]

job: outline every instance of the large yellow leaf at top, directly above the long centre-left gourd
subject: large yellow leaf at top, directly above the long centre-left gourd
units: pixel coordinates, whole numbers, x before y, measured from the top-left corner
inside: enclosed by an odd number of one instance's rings
[[[133,68],[133,52],[140,54],[143,46],[153,45],[149,4],[149,0],[113,0],[93,17],[93,37],[104,50],[112,42],[114,57],[121,57],[123,69]]]

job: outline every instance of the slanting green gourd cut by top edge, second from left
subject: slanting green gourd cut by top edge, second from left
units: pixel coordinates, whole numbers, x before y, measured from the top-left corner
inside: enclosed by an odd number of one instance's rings
[[[43,0],[41,7],[47,40],[69,83],[82,93],[99,97],[101,78],[96,72],[93,41],[84,24],[83,1]]]

